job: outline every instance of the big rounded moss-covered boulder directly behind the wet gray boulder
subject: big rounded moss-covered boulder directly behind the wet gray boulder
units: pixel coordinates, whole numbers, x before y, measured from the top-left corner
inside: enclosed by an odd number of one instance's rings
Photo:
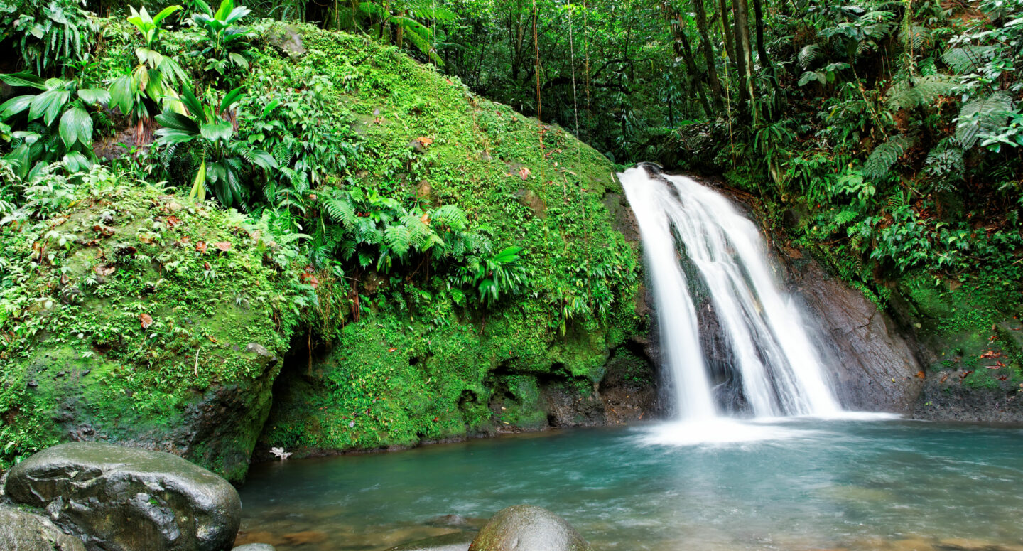
[[[0,230],[0,465],[65,440],[240,478],[286,349],[296,274],[236,213],[99,170]]]

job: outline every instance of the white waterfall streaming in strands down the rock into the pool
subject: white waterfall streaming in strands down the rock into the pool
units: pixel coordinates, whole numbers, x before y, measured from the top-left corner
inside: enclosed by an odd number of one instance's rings
[[[652,176],[642,167],[618,176],[639,224],[679,416],[699,421],[739,413],[729,409],[754,417],[838,413],[820,357],[774,281],[757,226],[691,178]],[[694,290],[709,297],[695,301]],[[712,320],[718,334],[701,335],[701,320]],[[705,356],[704,344],[713,339],[725,352]],[[722,367],[711,373],[711,363]]]

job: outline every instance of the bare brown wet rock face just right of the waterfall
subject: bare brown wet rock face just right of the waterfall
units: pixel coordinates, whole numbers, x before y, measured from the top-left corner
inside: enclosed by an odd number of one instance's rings
[[[850,410],[908,413],[923,385],[910,338],[858,291],[830,277],[816,262],[790,265],[794,295],[811,314],[807,323],[825,346],[833,387]]]

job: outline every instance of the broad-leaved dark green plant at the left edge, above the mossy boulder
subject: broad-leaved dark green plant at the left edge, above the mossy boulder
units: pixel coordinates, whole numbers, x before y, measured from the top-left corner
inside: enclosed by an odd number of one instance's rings
[[[16,174],[32,179],[49,163],[63,162],[72,172],[92,164],[92,116],[89,109],[106,104],[109,94],[78,80],[42,79],[29,73],[0,75],[10,86],[34,88],[0,104],[0,120],[16,128],[4,160]]]

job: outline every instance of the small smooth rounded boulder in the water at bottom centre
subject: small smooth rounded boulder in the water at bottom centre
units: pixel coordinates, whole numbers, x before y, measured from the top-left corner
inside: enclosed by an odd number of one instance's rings
[[[572,524],[533,505],[497,511],[469,546],[469,551],[591,551]]]

